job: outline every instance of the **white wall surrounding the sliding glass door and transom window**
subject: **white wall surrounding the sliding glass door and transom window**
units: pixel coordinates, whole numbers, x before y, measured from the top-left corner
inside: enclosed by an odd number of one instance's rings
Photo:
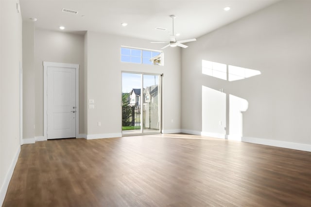
[[[121,63],[121,46],[159,49],[147,40],[87,32],[87,99],[95,109],[87,109],[90,138],[121,136],[121,71],[163,75],[164,132],[180,131],[181,82],[180,50],[164,51],[164,66]],[[109,98],[105,98],[109,94]],[[172,122],[173,121],[173,122]],[[101,122],[101,127],[98,127]]]

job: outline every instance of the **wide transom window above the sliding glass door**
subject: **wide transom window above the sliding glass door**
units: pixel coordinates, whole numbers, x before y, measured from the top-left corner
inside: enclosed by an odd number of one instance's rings
[[[121,62],[163,65],[162,52],[147,49],[121,47]]]

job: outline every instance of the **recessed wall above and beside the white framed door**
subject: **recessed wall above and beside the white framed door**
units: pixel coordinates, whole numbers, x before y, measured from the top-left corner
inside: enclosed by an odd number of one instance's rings
[[[84,35],[35,29],[35,136],[43,136],[43,61],[79,64],[79,130],[84,128]],[[25,95],[27,96],[27,95]]]

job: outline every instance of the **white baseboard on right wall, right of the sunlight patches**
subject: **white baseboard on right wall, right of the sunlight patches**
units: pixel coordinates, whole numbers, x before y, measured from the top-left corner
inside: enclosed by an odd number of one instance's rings
[[[242,142],[277,146],[277,147],[311,152],[311,144],[291,143],[291,142],[284,142],[284,141],[277,141],[277,140],[260,139],[260,138],[254,138],[254,137],[242,137]]]

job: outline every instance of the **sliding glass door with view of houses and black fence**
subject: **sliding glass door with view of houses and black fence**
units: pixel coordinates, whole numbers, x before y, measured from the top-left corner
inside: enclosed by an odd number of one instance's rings
[[[122,73],[122,135],[161,132],[161,75]]]

